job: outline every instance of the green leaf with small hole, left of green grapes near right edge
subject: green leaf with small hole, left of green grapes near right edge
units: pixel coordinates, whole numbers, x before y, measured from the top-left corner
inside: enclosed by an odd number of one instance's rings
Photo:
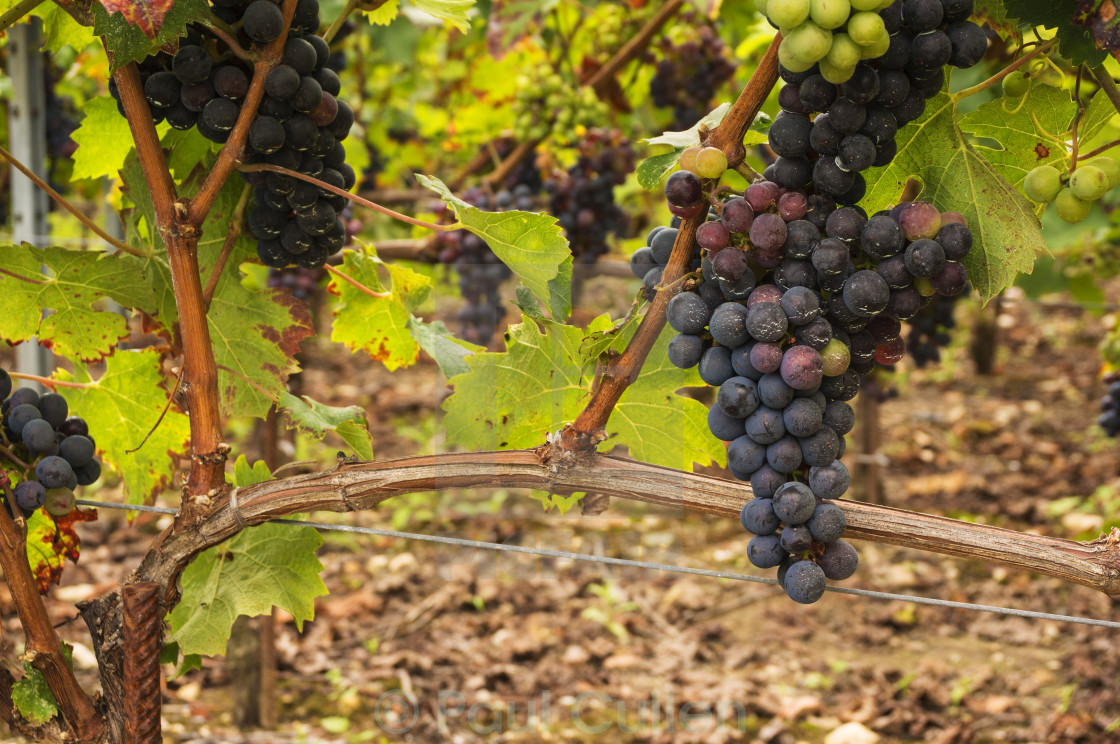
[[[1067,91],[1051,85],[1035,85],[1029,97],[1015,111],[1008,99],[983,103],[961,118],[961,131],[983,137],[999,148],[979,142],[973,147],[1004,178],[1021,189],[1027,171],[1040,165],[1062,161],[1066,151],[1045,133],[1061,137],[1073,123],[1077,106]],[[1061,168],[1061,166],[1058,166]]]

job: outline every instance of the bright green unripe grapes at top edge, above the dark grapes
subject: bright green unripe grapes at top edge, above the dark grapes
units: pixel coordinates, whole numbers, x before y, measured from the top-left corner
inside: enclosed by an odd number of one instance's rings
[[[892,0],[755,0],[755,7],[782,31],[778,61],[792,72],[820,65],[821,75],[840,84],[862,59],[883,56],[890,34],[879,16]]]

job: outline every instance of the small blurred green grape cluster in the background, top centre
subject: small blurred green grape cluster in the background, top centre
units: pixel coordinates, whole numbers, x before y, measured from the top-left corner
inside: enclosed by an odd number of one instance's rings
[[[522,141],[541,140],[550,131],[578,133],[607,119],[607,104],[595,91],[566,81],[551,67],[539,67],[535,75],[517,81],[513,133]]]

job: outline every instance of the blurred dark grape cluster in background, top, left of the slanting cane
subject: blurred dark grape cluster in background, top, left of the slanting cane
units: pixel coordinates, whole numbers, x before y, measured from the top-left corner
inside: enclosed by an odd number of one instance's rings
[[[682,27],[688,27],[688,18]],[[650,97],[656,106],[673,110],[673,128],[688,129],[711,110],[711,101],[735,74],[730,49],[716,30],[696,24],[697,36],[681,44],[661,40],[661,62],[650,81]]]

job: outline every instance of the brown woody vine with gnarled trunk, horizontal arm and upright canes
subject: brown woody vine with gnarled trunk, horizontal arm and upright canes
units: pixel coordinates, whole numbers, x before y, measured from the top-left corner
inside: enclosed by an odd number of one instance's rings
[[[672,0],[671,4],[675,10],[680,2]],[[295,7],[296,0],[283,0],[284,28]],[[666,10],[665,16],[669,15],[671,11]],[[727,518],[738,515],[752,497],[750,487],[735,481],[596,453],[615,403],[637,378],[664,326],[671,292],[663,291],[657,294],[627,350],[612,360],[585,410],[559,441],[526,450],[344,463],[324,473],[241,489],[236,492],[239,508],[231,509],[232,489],[225,482],[228,446],[223,440],[217,370],[207,328],[197,241],[209,207],[242,157],[249,125],[263,96],[265,74],[280,58],[284,36],[269,45],[256,62],[252,86],[230,140],[198,194],[189,199],[176,190],[136,66],[127,65],[116,73],[140,165],[153,197],[157,227],[171,266],[181,344],[177,351],[184,356],[183,390],[190,413],[190,474],[175,523],[153,540],[140,567],[113,592],[78,607],[99,661],[102,695],[96,699],[77,686],[65,663],[59,663],[63,654],[58,635],[30,571],[19,569],[20,565],[27,567],[19,531],[22,524],[4,522],[0,517],[0,564],[19,608],[30,660],[44,672],[62,710],[60,716],[44,725],[24,719],[12,703],[15,678],[7,668],[0,668],[0,718],[13,732],[34,741],[132,742],[140,741],[138,732],[158,731],[159,686],[137,671],[152,668],[144,666],[144,660],[125,658],[134,652],[138,631],[133,624],[125,632],[122,596],[142,588],[149,605],[147,616],[162,617],[178,603],[179,578],[190,561],[248,526],[297,512],[373,510],[394,495],[439,489],[525,487],[556,494],[591,491]],[[724,122],[707,134],[706,145],[721,148],[732,166],[743,160],[744,133],[776,82],[778,40],[775,38]],[[682,225],[665,270],[666,282],[683,275],[691,236],[701,218],[688,220]],[[1120,531],[1117,530],[1098,540],[1076,542],[858,502],[836,503],[844,511],[847,533],[853,538],[982,559],[1120,595]],[[149,597],[158,606],[151,607]],[[152,644],[144,645],[150,661]],[[158,668],[151,673],[158,675]],[[138,705],[141,697],[143,704]],[[152,716],[157,722],[155,729]]]

